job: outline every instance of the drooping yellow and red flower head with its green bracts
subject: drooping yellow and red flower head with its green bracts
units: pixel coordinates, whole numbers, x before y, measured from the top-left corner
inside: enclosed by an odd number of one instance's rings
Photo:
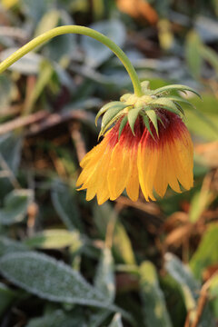
[[[163,197],[168,185],[177,193],[181,186],[185,190],[193,186],[193,143],[179,104],[188,102],[170,95],[173,90],[193,89],[170,85],[152,91],[147,83],[142,86],[143,96],[124,94],[96,116],[104,114],[100,132],[104,139],[84,156],[77,181],[80,190],[87,189],[88,201],[94,195],[99,204],[115,200],[124,189],[136,201],[139,187],[149,201]]]

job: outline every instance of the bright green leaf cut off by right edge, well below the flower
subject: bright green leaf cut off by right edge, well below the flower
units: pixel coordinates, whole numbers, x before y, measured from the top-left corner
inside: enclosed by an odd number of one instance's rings
[[[213,223],[203,234],[201,243],[190,261],[194,276],[201,279],[203,269],[218,262],[218,226]]]

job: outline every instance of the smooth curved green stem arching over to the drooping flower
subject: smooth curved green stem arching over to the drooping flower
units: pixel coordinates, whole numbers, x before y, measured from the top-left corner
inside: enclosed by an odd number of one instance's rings
[[[134,70],[133,64],[131,64],[126,54],[124,54],[124,51],[122,51],[118,45],[115,45],[114,42],[110,40],[107,36],[102,35],[101,33],[96,32],[91,28],[78,25],[64,25],[56,27],[48,32],[45,32],[42,35],[35,37],[35,39],[21,47],[19,50],[15,51],[14,54],[11,54],[0,64],[0,73],[4,72],[7,67],[9,67],[11,64],[14,64],[15,61],[20,59],[22,56],[35,49],[36,46],[44,44],[54,36],[70,33],[90,36],[95,40],[101,42],[102,44],[108,46],[124,64],[124,67],[128,72],[134,85],[134,94],[137,96],[143,95],[138,75]]]

